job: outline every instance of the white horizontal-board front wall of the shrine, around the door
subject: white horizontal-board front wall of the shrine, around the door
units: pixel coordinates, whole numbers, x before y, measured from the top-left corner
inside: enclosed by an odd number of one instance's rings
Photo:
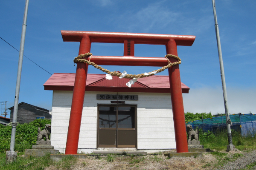
[[[86,92],[81,120],[78,148],[96,149],[97,104],[110,104],[110,100],[96,100],[96,94],[116,92]],[[170,94],[163,93],[118,93],[138,95],[137,104],[137,149],[175,149],[175,133]],[[53,91],[51,141],[56,149],[66,147],[67,130],[73,91]]]

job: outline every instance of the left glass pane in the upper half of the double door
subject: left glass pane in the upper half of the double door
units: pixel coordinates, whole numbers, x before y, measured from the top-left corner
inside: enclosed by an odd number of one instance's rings
[[[99,107],[99,127],[116,127],[116,107]]]

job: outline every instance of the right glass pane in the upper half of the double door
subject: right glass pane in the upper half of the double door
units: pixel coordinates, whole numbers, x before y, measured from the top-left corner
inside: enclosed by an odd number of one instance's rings
[[[118,127],[119,128],[135,128],[134,125],[134,107],[118,107]]]

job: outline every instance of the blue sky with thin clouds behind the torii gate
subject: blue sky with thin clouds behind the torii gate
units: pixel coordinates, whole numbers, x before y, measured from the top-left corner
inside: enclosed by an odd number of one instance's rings
[[[0,1],[0,37],[17,49],[24,6],[25,0]],[[255,0],[216,0],[230,113],[256,113],[255,8]],[[76,71],[73,58],[78,55],[79,43],[63,42],[61,30],[195,35],[191,47],[177,48],[182,60],[181,81],[190,88],[189,94],[183,94],[185,112],[224,113],[211,0],[30,0],[24,55],[51,74]],[[91,52],[122,56],[123,44],[93,43]],[[163,45],[135,45],[138,57],[165,54]],[[9,101],[8,108],[14,105],[18,57],[17,51],[0,40],[0,100]],[[128,74],[158,69],[104,68]],[[103,72],[89,66],[88,73]],[[50,76],[24,57],[19,102],[51,109],[52,91],[43,87]]]

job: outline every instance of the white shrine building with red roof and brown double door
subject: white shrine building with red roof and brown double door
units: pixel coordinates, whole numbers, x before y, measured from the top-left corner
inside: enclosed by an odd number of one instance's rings
[[[64,153],[76,74],[55,73],[44,84],[52,90],[51,141]],[[169,76],[112,80],[87,74],[78,152],[176,149]],[[189,87],[181,83],[182,93]],[[80,123],[80,122],[78,122]],[[125,149],[123,149],[125,148]]]

